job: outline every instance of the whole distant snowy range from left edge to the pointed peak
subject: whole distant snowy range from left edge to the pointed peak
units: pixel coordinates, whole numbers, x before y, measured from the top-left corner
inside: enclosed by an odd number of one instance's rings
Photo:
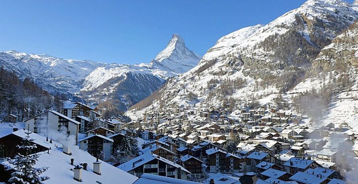
[[[50,93],[74,94],[84,100],[119,100],[122,110],[159,88],[168,77],[187,72],[200,56],[190,51],[182,37],[173,34],[154,60],[139,65],[106,64],[49,55],[0,52],[0,66],[28,77]]]

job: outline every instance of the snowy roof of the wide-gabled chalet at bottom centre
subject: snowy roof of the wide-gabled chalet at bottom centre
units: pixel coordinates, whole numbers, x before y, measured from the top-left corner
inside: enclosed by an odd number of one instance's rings
[[[126,172],[129,172],[129,171],[131,171],[131,170],[133,170],[133,169],[135,169],[135,168],[137,168],[137,167],[139,167],[139,166],[141,166],[141,165],[143,165],[143,164],[145,164],[145,163],[147,163],[147,162],[149,162],[149,161],[152,161],[152,160],[154,160],[154,159],[163,161],[163,162],[165,162],[166,164],[169,164],[169,165],[171,165],[171,166],[173,166],[173,167],[175,167],[175,168],[181,168],[182,171],[185,171],[185,172],[191,174],[191,173],[190,173],[187,169],[185,169],[183,166],[180,166],[180,165],[178,165],[178,164],[175,164],[174,162],[172,162],[172,161],[170,161],[170,160],[164,159],[163,157],[160,157],[160,156],[158,156],[158,155],[155,155],[155,154],[149,153],[149,152],[147,152],[147,153],[145,153],[145,154],[143,154],[143,155],[137,156],[137,157],[135,157],[134,159],[129,160],[129,161],[127,161],[127,162],[125,162],[125,163],[123,163],[123,164],[121,164],[121,165],[118,165],[117,168],[122,169],[122,170],[124,170],[124,171],[126,171]]]

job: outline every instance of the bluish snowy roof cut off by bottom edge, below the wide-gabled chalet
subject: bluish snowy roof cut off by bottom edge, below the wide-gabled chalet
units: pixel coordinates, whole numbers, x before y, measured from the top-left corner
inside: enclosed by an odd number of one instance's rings
[[[133,184],[202,184],[202,183],[144,173]]]

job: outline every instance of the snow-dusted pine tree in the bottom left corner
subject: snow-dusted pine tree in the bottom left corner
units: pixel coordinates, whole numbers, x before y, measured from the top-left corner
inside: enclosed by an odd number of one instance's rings
[[[49,179],[48,176],[40,176],[47,171],[47,167],[34,168],[34,165],[38,161],[38,154],[31,154],[36,145],[32,143],[33,140],[26,136],[26,138],[18,145],[19,152],[13,160],[9,163],[14,167],[9,166],[8,171],[11,171],[11,178],[9,183],[14,184],[41,184],[42,181]]]

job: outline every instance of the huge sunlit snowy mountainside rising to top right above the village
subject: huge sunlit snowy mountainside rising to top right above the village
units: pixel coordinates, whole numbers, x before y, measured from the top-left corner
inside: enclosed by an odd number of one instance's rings
[[[160,103],[221,105],[228,98],[238,105],[272,102],[304,79],[321,49],[357,20],[357,10],[341,0],[308,0],[267,25],[223,36],[196,67],[168,80],[128,114],[140,115]]]

